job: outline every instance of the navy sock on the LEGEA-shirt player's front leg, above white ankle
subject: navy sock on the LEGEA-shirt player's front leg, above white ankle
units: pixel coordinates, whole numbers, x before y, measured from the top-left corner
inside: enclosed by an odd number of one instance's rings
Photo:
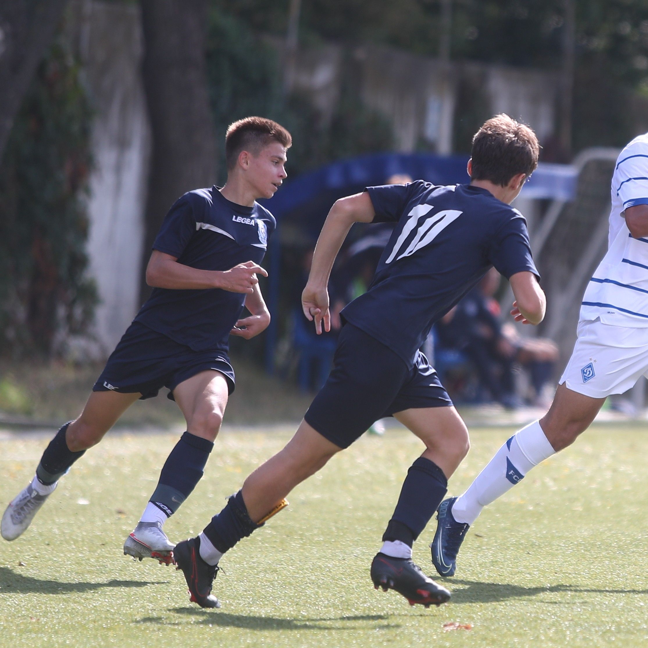
[[[167,457],[149,502],[172,516],[202,478],[213,447],[211,441],[185,432]]]

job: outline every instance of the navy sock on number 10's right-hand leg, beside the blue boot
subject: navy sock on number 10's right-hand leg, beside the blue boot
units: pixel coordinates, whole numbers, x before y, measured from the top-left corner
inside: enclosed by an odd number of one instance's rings
[[[434,461],[419,457],[408,470],[399,502],[382,537],[412,546],[448,491],[448,480]]]

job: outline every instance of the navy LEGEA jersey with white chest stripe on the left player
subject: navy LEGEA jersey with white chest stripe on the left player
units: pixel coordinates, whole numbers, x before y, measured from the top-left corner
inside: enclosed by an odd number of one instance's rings
[[[244,207],[227,200],[217,187],[196,189],[176,200],[153,249],[192,268],[230,270],[246,261],[260,264],[275,225],[258,203]],[[245,297],[220,288],[154,288],[135,320],[194,351],[227,351]]]

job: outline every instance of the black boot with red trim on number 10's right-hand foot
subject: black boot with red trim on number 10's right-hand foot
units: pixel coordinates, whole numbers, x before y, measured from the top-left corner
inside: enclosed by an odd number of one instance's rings
[[[410,605],[441,605],[450,600],[450,592],[426,576],[410,558],[392,558],[377,553],[371,563],[371,580],[383,591],[395,590],[410,602]]]

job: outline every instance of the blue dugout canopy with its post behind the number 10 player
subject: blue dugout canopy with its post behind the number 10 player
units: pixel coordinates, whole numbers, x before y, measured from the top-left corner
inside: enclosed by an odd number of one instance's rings
[[[315,242],[331,205],[341,198],[372,185],[382,185],[395,174],[408,174],[435,185],[456,185],[470,181],[466,165],[469,156],[437,156],[427,153],[381,153],[334,162],[314,171],[288,178],[270,200],[262,201],[281,222],[299,221]],[[521,198],[573,200],[578,172],[571,165],[540,163],[524,185]],[[277,338],[281,244],[278,233],[270,243],[268,307],[273,315],[266,338],[266,368],[272,373]]]

